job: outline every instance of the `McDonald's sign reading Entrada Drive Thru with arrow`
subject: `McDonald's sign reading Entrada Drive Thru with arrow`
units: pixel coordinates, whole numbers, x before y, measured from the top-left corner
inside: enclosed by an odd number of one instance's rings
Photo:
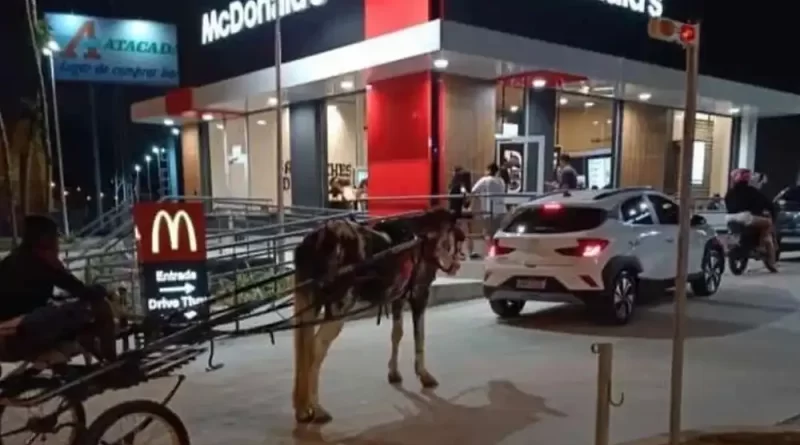
[[[149,312],[188,309],[208,298],[202,203],[136,204],[133,209],[144,304]]]

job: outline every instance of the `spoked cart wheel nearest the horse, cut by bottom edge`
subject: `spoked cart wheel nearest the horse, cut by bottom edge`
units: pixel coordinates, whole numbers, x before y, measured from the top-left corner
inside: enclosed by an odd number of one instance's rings
[[[189,432],[169,408],[150,400],[131,400],[104,411],[89,426],[86,445],[190,445]]]

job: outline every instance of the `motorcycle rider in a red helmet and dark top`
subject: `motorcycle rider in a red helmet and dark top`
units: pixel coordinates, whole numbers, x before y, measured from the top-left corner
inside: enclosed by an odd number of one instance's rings
[[[753,173],[740,168],[731,172],[731,188],[725,194],[727,222],[736,222],[745,227],[758,230],[761,245],[767,252],[765,264],[770,272],[777,272],[775,266],[775,244],[773,242],[773,220],[775,207],[758,188],[752,185]],[[768,216],[767,216],[768,215]]]

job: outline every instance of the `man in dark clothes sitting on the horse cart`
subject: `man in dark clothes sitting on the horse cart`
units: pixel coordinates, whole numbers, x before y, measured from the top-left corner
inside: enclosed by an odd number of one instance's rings
[[[113,360],[115,325],[105,292],[86,286],[64,267],[58,235],[52,219],[28,216],[22,243],[0,261],[2,358],[32,360],[78,341],[98,359]],[[55,301],[56,288],[75,300]]]

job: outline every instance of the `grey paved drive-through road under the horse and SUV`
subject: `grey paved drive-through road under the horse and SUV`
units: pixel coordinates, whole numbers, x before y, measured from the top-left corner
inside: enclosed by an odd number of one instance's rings
[[[690,303],[686,427],[768,425],[800,413],[800,263],[783,269],[726,276],[719,295]],[[405,388],[395,389],[386,383],[388,324],[349,324],[323,372],[322,400],[335,420],[319,431],[293,431],[287,336],[275,346],[266,337],[221,346],[225,368],[205,373],[194,365],[172,406],[195,445],[588,444],[596,369],[589,348],[610,341],[614,394],[625,393],[612,412],[614,441],[666,429],[668,303],[643,308],[623,328],[593,326],[580,310],[529,309],[514,323],[498,322],[483,301],[432,309],[428,362],[441,382],[435,393],[421,392],[413,378],[410,336],[401,352]],[[105,395],[90,415],[114,400],[157,396],[165,383]]]

